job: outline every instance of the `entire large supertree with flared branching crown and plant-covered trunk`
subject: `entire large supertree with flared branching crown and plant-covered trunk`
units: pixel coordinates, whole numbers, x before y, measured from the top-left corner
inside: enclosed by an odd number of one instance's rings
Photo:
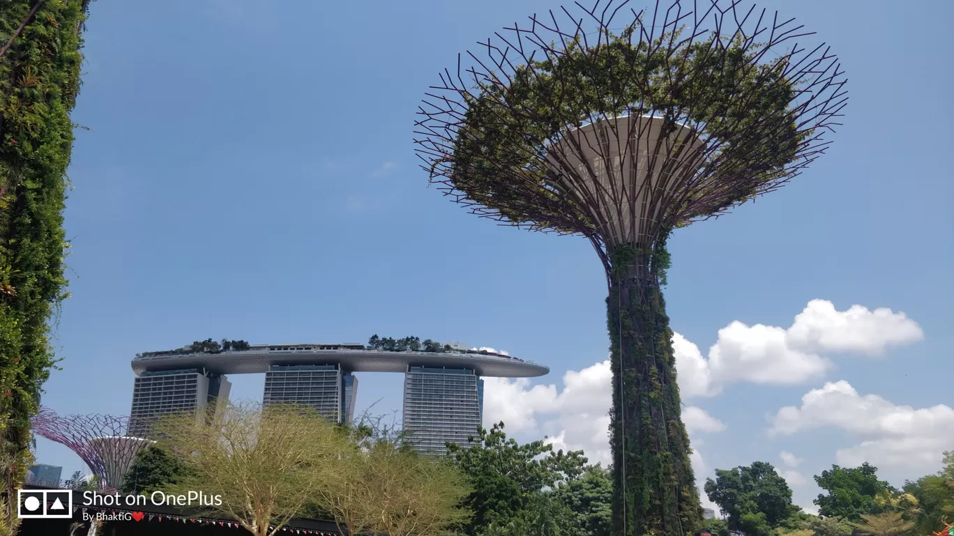
[[[624,20],[625,19],[625,20]],[[699,522],[660,284],[675,228],[821,155],[846,102],[836,56],[738,0],[599,0],[533,15],[426,93],[416,151],[473,214],[590,239],[606,271],[615,534]]]

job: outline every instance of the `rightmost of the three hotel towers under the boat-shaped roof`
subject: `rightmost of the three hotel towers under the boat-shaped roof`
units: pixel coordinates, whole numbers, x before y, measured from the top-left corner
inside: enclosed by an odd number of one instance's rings
[[[409,366],[404,375],[405,441],[441,455],[446,443],[468,445],[484,414],[484,381],[466,368]]]

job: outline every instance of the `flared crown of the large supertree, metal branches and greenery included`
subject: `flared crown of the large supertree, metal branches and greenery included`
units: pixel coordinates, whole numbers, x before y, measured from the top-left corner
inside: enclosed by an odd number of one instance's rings
[[[739,0],[534,14],[458,55],[415,121],[431,182],[478,216],[619,245],[778,189],[847,96],[813,33]]]

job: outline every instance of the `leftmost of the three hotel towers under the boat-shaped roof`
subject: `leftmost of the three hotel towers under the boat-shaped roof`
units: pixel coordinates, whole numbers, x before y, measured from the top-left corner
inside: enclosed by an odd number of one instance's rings
[[[206,410],[217,400],[228,401],[232,383],[225,376],[201,369],[143,372],[133,383],[129,435],[144,437],[150,423],[170,413]]]

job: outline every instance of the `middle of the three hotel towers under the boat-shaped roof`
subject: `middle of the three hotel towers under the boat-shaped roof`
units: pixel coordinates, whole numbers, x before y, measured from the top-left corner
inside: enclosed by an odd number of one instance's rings
[[[325,419],[351,423],[358,379],[339,364],[271,365],[265,373],[264,405],[299,403],[314,407]]]

